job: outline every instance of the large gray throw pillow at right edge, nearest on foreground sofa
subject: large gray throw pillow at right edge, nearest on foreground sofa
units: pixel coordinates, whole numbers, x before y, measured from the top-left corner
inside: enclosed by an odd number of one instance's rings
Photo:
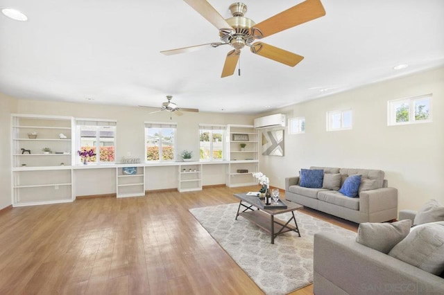
[[[413,227],[388,255],[438,276],[444,271],[444,222]]]

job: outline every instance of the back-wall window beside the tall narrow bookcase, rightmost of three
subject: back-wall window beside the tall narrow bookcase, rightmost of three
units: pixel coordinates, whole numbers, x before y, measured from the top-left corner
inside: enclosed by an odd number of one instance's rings
[[[225,125],[199,125],[200,160],[223,160]]]

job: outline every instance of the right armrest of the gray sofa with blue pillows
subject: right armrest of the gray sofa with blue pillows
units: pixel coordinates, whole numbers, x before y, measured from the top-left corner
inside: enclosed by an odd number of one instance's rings
[[[396,188],[377,188],[359,193],[359,211],[375,213],[389,208],[398,208],[398,190]]]

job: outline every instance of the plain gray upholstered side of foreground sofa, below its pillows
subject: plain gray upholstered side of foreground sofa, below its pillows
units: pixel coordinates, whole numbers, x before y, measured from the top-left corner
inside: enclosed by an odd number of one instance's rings
[[[314,235],[314,294],[444,294],[444,279],[337,233]]]

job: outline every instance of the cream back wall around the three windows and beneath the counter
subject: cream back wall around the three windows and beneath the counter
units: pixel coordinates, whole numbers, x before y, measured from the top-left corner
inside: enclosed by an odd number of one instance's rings
[[[183,150],[192,150],[194,158],[199,157],[199,123],[210,124],[245,124],[253,125],[253,116],[234,116],[222,113],[191,113],[182,112],[182,116],[162,111],[148,114],[155,109],[142,107],[120,107],[111,105],[97,105],[94,103],[52,102],[39,100],[17,100],[17,113],[74,116],[76,118],[104,118],[117,120],[117,161],[127,156],[144,160],[144,122],[177,122],[177,151],[176,157]],[[8,118],[10,115],[8,114]],[[10,119],[9,119],[10,120]],[[9,122],[9,121],[8,121]],[[7,128],[9,132],[9,127]],[[9,134],[9,133],[8,133]],[[9,144],[9,140],[6,141]],[[7,154],[10,154],[9,152]],[[10,163],[10,159],[8,159]],[[8,170],[10,168],[8,167]],[[203,185],[225,184],[225,166],[206,165],[203,168],[205,176]],[[94,169],[76,170],[76,195],[100,195],[116,193],[115,170]],[[147,190],[162,188],[176,188],[178,184],[178,167],[150,167],[146,168]],[[10,183],[8,183],[8,187]],[[148,187],[149,186],[149,187]],[[9,194],[10,195],[10,194]]]

